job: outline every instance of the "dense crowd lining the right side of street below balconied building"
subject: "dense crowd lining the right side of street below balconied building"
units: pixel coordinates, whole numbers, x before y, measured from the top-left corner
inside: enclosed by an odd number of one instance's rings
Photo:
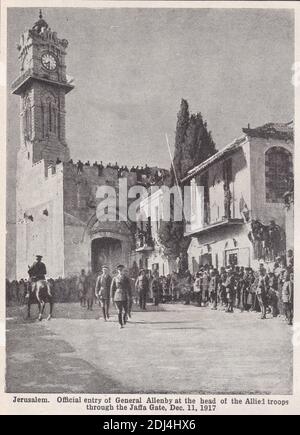
[[[228,313],[257,311],[261,319],[266,319],[270,313],[292,325],[293,266],[277,259],[271,269],[260,263],[257,271],[236,265],[220,270],[208,265],[201,267],[194,276],[186,273],[185,303],[191,301],[199,307],[211,305],[212,310],[222,309]]]

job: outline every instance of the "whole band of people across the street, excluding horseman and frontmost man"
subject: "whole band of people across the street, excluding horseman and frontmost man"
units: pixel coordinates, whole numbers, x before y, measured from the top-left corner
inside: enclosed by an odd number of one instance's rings
[[[97,274],[82,270],[77,277],[48,279],[48,282],[54,302],[79,302],[88,310],[92,310],[94,303],[99,302],[103,317],[107,319],[109,301],[114,297],[113,283],[118,273],[117,268],[116,273],[110,276],[108,268],[104,266]],[[271,269],[261,263],[256,271],[237,265],[220,269],[205,265],[194,275],[187,270],[184,276],[177,272],[159,276],[157,271],[141,269],[136,277],[127,273],[122,266],[121,275],[128,279],[126,299],[129,301],[129,315],[132,303],[146,310],[149,303],[157,306],[160,303],[182,302],[227,313],[235,310],[255,311],[260,312],[262,319],[270,314],[272,317],[283,317],[290,325],[293,322],[293,258],[289,259],[288,264],[278,258]],[[30,285],[27,279],[6,280],[7,305],[26,303]]]

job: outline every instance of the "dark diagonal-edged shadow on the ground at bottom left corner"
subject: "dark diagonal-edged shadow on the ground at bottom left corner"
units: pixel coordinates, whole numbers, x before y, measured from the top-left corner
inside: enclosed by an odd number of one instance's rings
[[[6,392],[70,393],[71,386],[74,393],[120,389],[119,383],[76,357],[74,348],[43,324],[8,320],[7,328]]]

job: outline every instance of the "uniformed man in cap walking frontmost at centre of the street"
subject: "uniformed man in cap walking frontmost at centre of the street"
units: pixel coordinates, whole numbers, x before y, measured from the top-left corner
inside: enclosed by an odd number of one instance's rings
[[[117,276],[111,283],[110,296],[118,311],[120,328],[124,328],[127,321],[128,303],[131,299],[131,285],[129,278],[125,275],[125,267],[117,266]]]

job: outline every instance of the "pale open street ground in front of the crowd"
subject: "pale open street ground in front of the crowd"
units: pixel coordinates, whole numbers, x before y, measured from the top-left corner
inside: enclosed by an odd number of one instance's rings
[[[7,310],[7,391],[265,393],[292,388],[292,329],[282,319],[161,305],[124,329],[100,308],[57,304],[51,321]]]

